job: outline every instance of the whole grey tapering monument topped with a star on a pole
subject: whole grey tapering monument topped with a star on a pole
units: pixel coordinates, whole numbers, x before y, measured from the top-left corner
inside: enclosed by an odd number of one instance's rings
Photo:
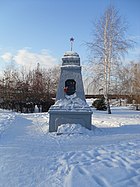
[[[62,124],[81,124],[91,129],[92,110],[86,103],[81,74],[80,57],[72,50],[62,57],[56,102],[49,109],[49,132],[57,132]]]

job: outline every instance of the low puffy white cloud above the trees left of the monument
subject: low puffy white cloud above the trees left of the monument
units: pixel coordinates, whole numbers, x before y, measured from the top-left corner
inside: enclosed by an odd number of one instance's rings
[[[47,50],[42,50],[39,53],[30,52],[27,48],[20,49],[15,55],[7,52],[1,56],[5,62],[14,61],[16,65],[24,66],[27,69],[33,69],[37,63],[41,67],[50,68],[56,63],[56,58],[51,56]]]

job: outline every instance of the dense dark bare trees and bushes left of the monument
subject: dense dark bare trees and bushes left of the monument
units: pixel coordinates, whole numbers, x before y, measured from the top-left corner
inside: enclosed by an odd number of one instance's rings
[[[18,71],[7,67],[0,79],[1,107],[16,108],[22,112],[23,108],[33,111],[35,105],[40,109],[40,105],[52,103],[58,77],[59,68],[42,69],[39,63],[28,72],[25,69]]]

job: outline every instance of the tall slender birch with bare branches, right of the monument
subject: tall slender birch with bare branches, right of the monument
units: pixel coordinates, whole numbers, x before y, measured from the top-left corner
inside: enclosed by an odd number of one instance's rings
[[[94,54],[102,73],[100,82],[103,83],[108,113],[111,114],[109,94],[113,71],[128,48],[132,47],[132,41],[126,39],[127,25],[113,6],[105,10],[103,16],[94,24],[94,28],[93,41],[87,43],[87,46]]]

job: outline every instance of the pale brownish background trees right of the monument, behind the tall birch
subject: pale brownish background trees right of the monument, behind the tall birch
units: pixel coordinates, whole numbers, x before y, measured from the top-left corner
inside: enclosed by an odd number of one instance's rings
[[[104,81],[100,78],[103,72],[99,71],[98,65],[90,70],[84,81],[86,94],[104,95]],[[140,103],[140,61],[118,66],[110,79],[109,94],[127,95],[130,98],[128,102],[135,100]]]

